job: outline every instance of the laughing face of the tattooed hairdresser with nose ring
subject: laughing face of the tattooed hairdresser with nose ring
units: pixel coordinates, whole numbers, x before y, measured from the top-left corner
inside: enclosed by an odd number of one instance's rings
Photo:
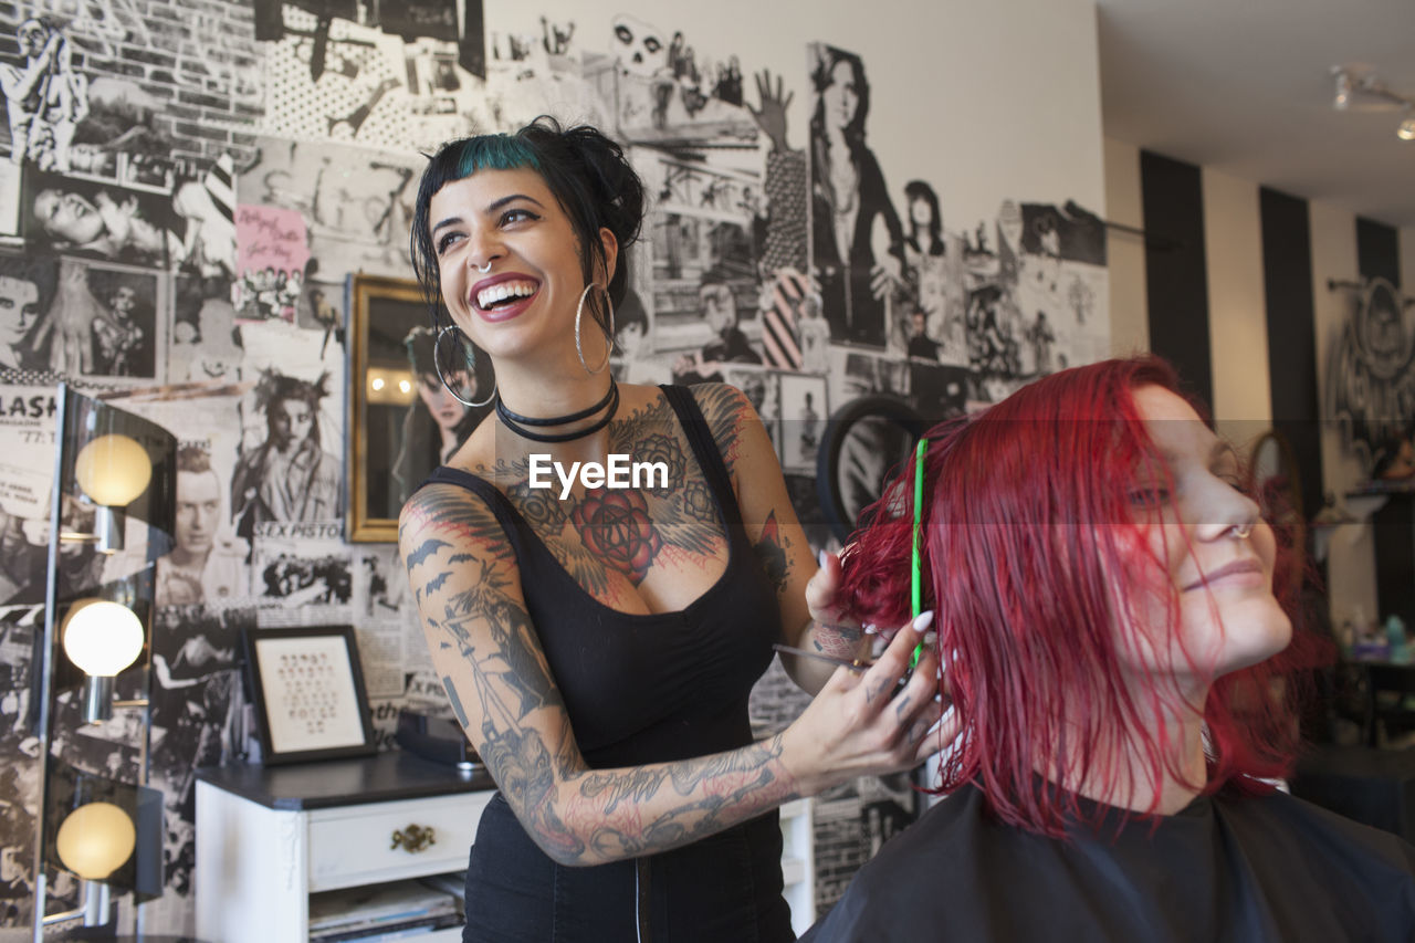
[[[478,347],[494,358],[556,340],[573,351],[583,259],[574,227],[541,174],[480,170],[454,180],[433,194],[429,219],[447,310]],[[608,229],[600,238],[608,270],[596,280],[604,285],[617,245]]]

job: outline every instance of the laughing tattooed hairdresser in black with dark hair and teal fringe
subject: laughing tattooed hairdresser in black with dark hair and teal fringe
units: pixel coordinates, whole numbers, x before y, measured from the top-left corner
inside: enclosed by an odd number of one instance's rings
[[[495,416],[399,521],[433,664],[499,786],[467,940],[792,939],[777,807],[932,750],[934,657],[899,684],[914,626],[862,673],[791,658],[819,694],[754,739],[773,643],[849,660],[862,636],[805,602],[816,568],[743,394],[606,371],[642,217],[620,147],[549,119],[444,146],[419,185],[434,364],[495,375]],[[614,481],[621,459],[659,473]]]

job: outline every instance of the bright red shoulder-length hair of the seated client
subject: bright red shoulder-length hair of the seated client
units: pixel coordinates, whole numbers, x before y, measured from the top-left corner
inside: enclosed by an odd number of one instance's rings
[[[1165,749],[1177,731],[1163,721],[1180,698],[1155,671],[1155,684],[1126,684],[1124,656],[1145,643],[1139,630],[1116,630],[1148,629],[1162,647],[1179,637],[1179,599],[1167,582],[1159,596],[1167,624],[1146,626],[1139,613],[1153,590],[1124,578],[1140,564],[1166,565],[1136,522],[1156,510],[1135,505],[1138,473],[1173,486],[1135,405],[1133,391],[1148,385],[1184,395],[1157,358],[1109,360],[1039,379],[928,436],[924,607],[935,612],[962,722],[937,791],[976,782],[1002,821],[1046,835],[1061,837],[1067,821],[1104,808],[1085,813],[1075,793],[1039,787],[1041,765],[1053,782],[1098,784],[1102,799],[1153,786],[1155,803],[1142,814],[1157,808],[1166,770],[1183,776]],[[841,599],[862,620],[908,617],[911,466],[866,510],[862,518],[873,522],[843,555]],[[1292,572],[1282,565],[1292,548],[1278,537],[1274,592],[1296,624],[1299,586],[1281,578]],[[1298,644],[1213,681],[1203,705],[1208,780],[1194,786],[1265,793],[1271,784],[1257,777],[1290,769],[1296,685],[1275,678],[1310,664],[1310,651]],[[1193,656],[1190,664],[1200,667]],[[1149,783],[1126,779],[1122,746],[1139,750]]]

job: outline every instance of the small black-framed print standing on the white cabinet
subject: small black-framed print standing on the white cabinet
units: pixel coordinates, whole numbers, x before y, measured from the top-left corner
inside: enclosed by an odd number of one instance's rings
[[[253,629],[245,641],[267,766],[375,752],[352,627]]]

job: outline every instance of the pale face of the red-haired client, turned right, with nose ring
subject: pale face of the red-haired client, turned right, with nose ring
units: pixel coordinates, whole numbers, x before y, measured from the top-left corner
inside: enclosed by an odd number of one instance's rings
[[[1173,481],[1157,469],[1142,469],[1135,483],[1142,539],[1160,566],[1132,573],[1140,583],[1138,616],[1148,629],[1140,627],[1138,653],[1131,646],[1121,651],[1143,663],[1132,663],[1132,670],[1207,682],[1268,658],[1292,637],[1272,593],[1276,539],[1258,505],[1238,490],[1232,449],[1184,399],[1142,387],[1135,405]],[[1179,626],[1165,633],[1172,599]]]

